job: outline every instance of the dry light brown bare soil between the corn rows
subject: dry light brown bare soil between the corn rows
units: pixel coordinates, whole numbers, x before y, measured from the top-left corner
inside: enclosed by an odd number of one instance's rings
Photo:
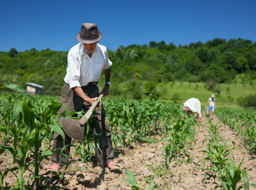
[[[216,116],[213,118],[213,123],[222,125],[221,135],[225,140],[231,140],[235,142],[235,145],[242,150],[242,153],[238,150],[234,150],[232,153],[235,156],[235,163],[238,166],[244,156],[244,162],[241,169],[246,169],[249,176],[249,183],[256,183],[256,157],[250,155],[249,151],[244,148],[242,139],[238,138],[234,131],[231,131],[228,127],[224,127],[224,124],[219,123]],[[180,157],[171,160],[168,165],[168,171],[164,170],[165,158],[162,155],[163,141],[161,136],[154,136],[157,143],[143,143],[134,144],[130,148],[121,148],[121,145],[115,153],[115,162],[121,164],[122,167],[130,170],[134,174],[137,183],[141,182],[140,189],[148,189],[148,180],[154,176],[154,184],[157,184],[162,190],[213,190],[216,185],[220,185],[218,179],[214,180],[214,176],[208,175],[208,183],[205,179],[206,170],[203,170],[203,162],[200,162],[197,166],[197,162],[203,159],[205,155],[200,150],[206,148],[206,143],[202,146],[204,139],[209,135],[209,131],[206,127],[208,124],[208,118],[203,117],[200,127],[196,127],[197,135],[195,137],[195,144],[192,145],[189,150],[192,162],[188,162],[189,159],[183,154]],[[232,145],[231,142],[229,142]],[[73,151],[73,152],[72,152]],[[64,170],[62,168],[59,175],[47,174],[47,181],[43,182],[43,185],[38,189],[65,189],[65,190],[115,190],[117,185],[121,183],[123,179],[129,179],[125,170],[122,171],[109,171],[109,169],[102,169],[97,165],[95,156],[91,163],[81,165],[81,159],[75,155],[74,150],[71,148],[71,154],[73,158],[72,165]],[[3,172],[6,167],[13,167],[12,158],[6,153],[0,155],[0,170]],[[46,169],[50,167],[51,161],[44,160],[40,174],[45,174]],[[61,175],[63,174],[63,176]],[[24,174],[24,179],[31,175],[29,171]],[[143,179],[145,179],[143,181]],[[4,180],[9,187],[15,184],[16,177],[9,173]],[[250,187],[251,189],[256,189]],[[131,185],[128,182],[124,182],[120,185],[119,190],[130,190]]]

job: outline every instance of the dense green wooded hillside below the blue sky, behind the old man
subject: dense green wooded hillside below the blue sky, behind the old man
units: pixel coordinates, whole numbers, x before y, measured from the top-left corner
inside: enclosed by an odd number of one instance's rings
[[[67,53],[49,48],[0,52],[0,80],[21,87],[26,87],[25,82],[34,82],[45,86],[46,91],[60,91]],[[152,41],[149,45],[120,46],[115,52],[108,50],[108,54],[113,62],[111,82],[129,82],[132,89],[145,81],[232,82],[240,73],[256,79],[256,42],[241,38],[215,38],[184,46]]]

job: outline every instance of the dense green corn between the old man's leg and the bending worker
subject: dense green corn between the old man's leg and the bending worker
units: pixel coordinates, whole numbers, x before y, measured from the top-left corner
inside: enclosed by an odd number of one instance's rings
[[[123,146],[147,141],[148,136],[158,130],[171,118],[178,119],[180,106],[169,103],[146,101],[115,101],[104,99],[106,115],[112,127],[114,146],[120,142]]]

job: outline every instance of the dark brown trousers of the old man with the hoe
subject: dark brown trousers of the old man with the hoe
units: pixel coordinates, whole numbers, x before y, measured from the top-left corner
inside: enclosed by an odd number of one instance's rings
[[[97,86],[92,87],[83,87],[84,93],[90,97],[95,98],[99,96],[99,88]],[[81,110],[88,110],[91,106],[88,103],[84,103],[84,100],[81,99],[75,92],[71,91],[68,84],[64,84],[61,91],[60,103],[66,105],[68,107],[69,112],[76,111],[79,112]],[[64,108],[60,108],[58,112],[58,116],[64,111]],[[93,120],[93,134],[95,135],[95,150],[97,159],[100,167],[107,167],[107,164],[114,159],[114,152],[112,149],[111,143],[111,129],[109,128],[109,120],[107,119],[103,104],[100,108],[96,108],[95,119]],[[103,133],[103,132],[107,133]],[[103,133],[103,134],[102,134]],[[102,134],[100,136],[96,136],[98,134]],[[65,134],[66,140],[65,145],[71,145],[71,138]],[[97,147],[97,143],[99,143],[100,149]],[[55,133],[54,141],[53,141],[53,150],[56,148],[63,148],[63,139],[62,136]],[[69,155],[70,146],[67,146],[65,155]],[[68,162],[68,158],[60,157],[59,154],[52,154],[52,162],[64,164]]]

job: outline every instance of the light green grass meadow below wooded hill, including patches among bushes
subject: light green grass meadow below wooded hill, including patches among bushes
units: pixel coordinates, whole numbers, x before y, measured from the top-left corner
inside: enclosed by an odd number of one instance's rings
[[[217,84],[220,89],[220,96],[217,93],[207,89],[206,84],[203,82],[167,82],[159,83],[156,85],[156,92],[160,95],[159,101],[173,102],[172,96],[177,93],[180,99],[177,103],[184,103],[187,99],[192,97],[197,98],[201,101],[201,106],[206,107],[208,98],[214,93],[216,97],[216,108],[226,107],[226,108],[240,108],[237,105],[237,98],[240,96],[247,96],[249,94],[256,94],[256,80],[242,80],[243,75],[237,75],[236,83],[229,84]],[[103,78],[103,77],[102,77]],[[104,79],[99,83],[99,89],[102,89],[104,84]],[[244,82],[243,82],[244,81]],[[145,82],[144,82],[145,83]],[[124,82],[119,84],[121,95],[114,97],[111,94],[111,89],[114,88],[115,83],[111,84],[109,89],[108,98],[123,98],[127,100],[132,100],[130,91],[128,90],[128,83]],[[228,89],[229,88],[229,92]],[[143,89],[142,89],[143,90]],[[146,94],[143,94],[142,100],[148,101],[150,98]]]

